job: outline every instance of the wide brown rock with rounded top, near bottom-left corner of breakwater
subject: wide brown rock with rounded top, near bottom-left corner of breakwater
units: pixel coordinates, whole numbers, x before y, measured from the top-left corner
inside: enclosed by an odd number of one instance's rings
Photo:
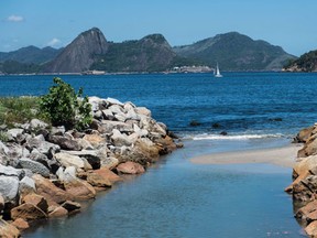
[[[22,218],[24,220],[39,220],[47,218],[47,215],[33,204],[24,203],[11,209],[11,218]]]

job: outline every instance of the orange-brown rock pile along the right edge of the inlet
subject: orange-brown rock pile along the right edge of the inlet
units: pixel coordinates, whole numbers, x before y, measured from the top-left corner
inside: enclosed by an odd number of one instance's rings
[[[304,147],[293,167],[293,183],[285,191],[293,194],[297,220],[309,237],[317,237],[317,125],[302,130],[295,142]]]

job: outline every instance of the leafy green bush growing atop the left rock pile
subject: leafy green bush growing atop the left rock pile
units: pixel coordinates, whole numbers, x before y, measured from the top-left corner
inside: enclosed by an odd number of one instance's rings
[[[83,88],[78,93],[61,78],[53,79],[54,86],[50,93],[41,97],[41,109],[48,116],[53,126],[65,126],[66,129],[84,130],[91,120],[91,106],[88,97],[83,96]]]

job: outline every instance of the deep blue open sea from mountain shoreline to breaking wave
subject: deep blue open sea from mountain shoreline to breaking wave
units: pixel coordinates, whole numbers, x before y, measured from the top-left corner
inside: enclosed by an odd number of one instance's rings
[[[132,101],[183,137],[292,137],[317,118],[317,74],[227,73],[62,76],[88,96]],[[53,76],[0,76],[0,96],[43,95]],[[277,119],[277,120],[276,120]],[[282,121],[281,121],[282,119]],[[190,121],[200,126],[189,127]],[[212,128],[218,123],[219,128]]]

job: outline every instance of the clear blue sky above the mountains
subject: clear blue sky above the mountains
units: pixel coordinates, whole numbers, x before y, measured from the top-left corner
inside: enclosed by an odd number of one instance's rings
[[[0,52],[65,46],[99,28],[108,41],[162,33],[172,46],[237,31],[302,55],[317,50],[316,0],[0,0]]]

